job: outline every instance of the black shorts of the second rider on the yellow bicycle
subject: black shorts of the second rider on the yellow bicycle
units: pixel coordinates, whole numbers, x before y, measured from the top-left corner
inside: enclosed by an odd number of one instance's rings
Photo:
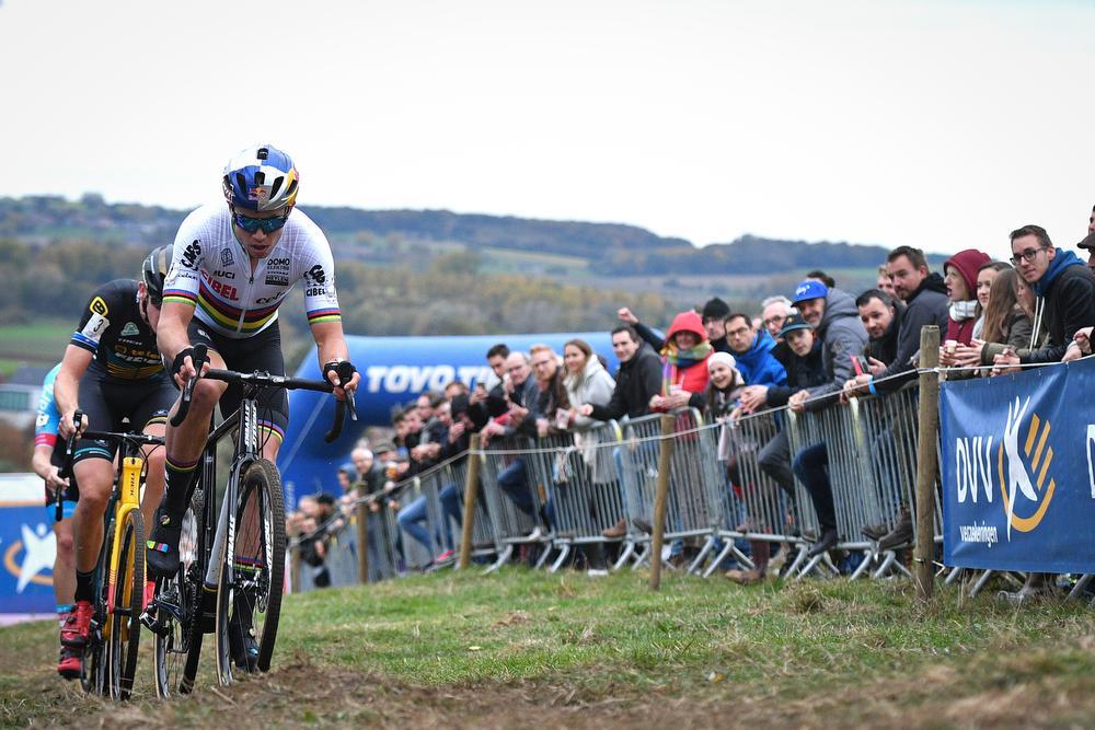
[[[142,380],[108,378],[92,363],[80,379],[80,410],[88,416],[91,431],[143,431],[146,426],[163,422],[168,410],[178,397],[178,390],[161,372]],[[124,424],[125,419],[128,424]],[[73,449],[72,462],[84,459],[114,461],[117,443],[80,439]]]

